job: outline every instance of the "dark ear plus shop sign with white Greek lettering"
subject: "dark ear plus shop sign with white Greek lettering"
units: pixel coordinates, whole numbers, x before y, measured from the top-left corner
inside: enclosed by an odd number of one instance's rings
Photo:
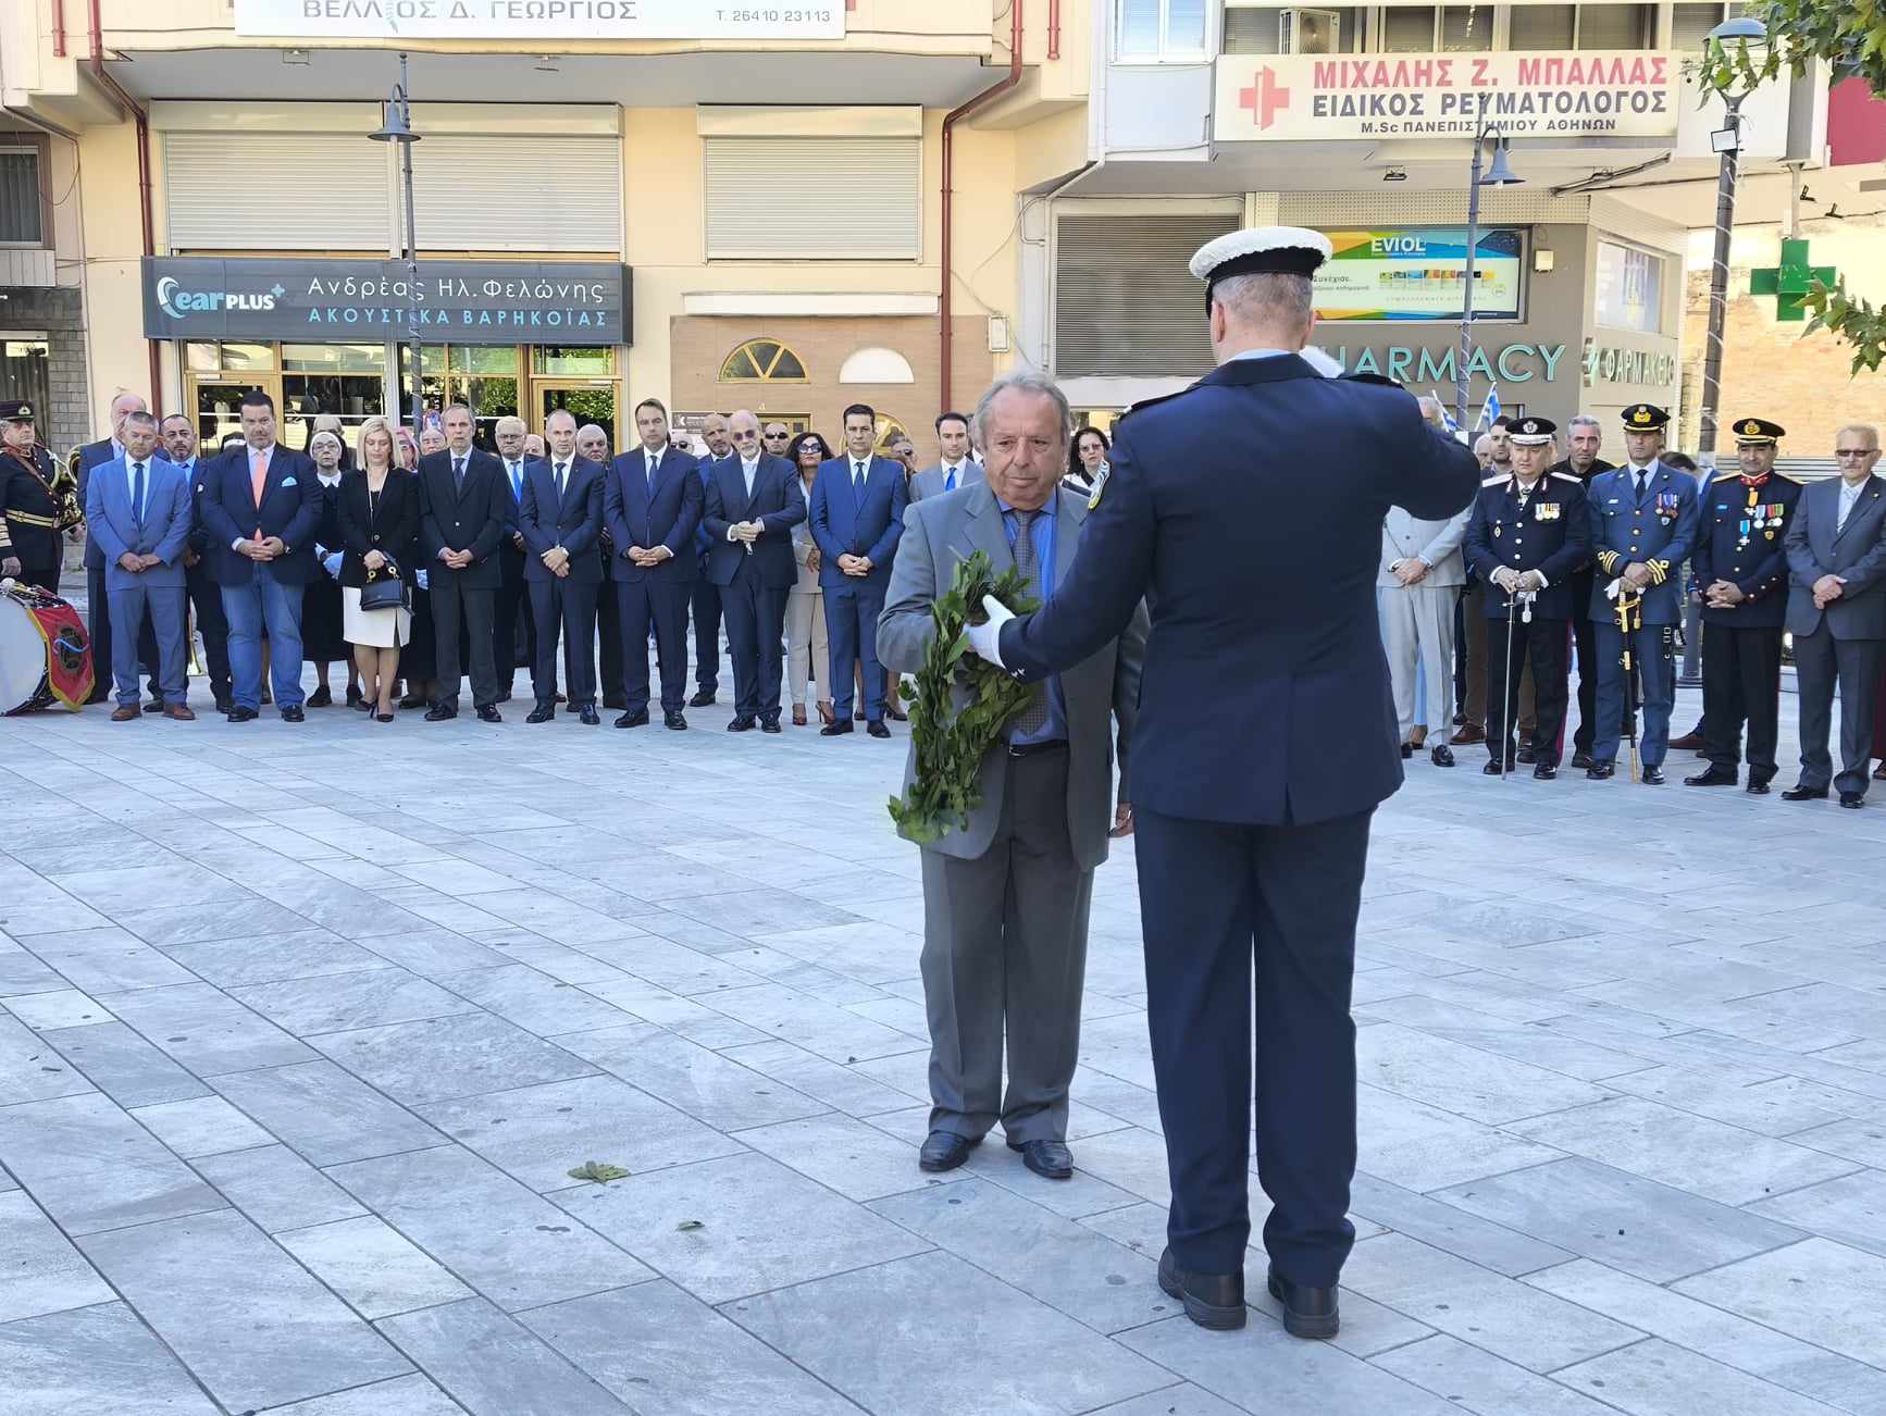
[[[143,258],[147,339],[626,345],[628,266],[598,260]]]

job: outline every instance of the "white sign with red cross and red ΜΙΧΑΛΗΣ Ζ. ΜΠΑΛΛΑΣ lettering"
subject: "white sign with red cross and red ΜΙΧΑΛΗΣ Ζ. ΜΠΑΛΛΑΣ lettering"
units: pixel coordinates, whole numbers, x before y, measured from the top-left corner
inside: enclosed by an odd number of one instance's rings
[[[1471,138],[1667,138],[1680,79],[1663,53],[1224,55],[1218,141]]]

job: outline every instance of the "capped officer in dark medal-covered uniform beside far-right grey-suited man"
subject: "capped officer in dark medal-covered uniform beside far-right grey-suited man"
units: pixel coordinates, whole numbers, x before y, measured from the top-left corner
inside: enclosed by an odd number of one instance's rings
[[[1767,796],[1780,720],[1780,637],[1788,617],[1782,530],[1801,483],[1775,471],[1786,428],[1767,419],[1733,424],[1737,471],[1703,488],[1690,551],[1690,588],[1703,598],[1703,749],[1709,769],[1684,786],[1735,786],[1748,720],[1748,790]]]

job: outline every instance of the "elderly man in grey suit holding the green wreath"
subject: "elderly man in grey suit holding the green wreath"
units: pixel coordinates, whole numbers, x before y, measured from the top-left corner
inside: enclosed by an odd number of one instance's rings
[[[1041,373],[1011,373],[975,409],[986,481],[913,502],[877,622],[883,662],[913,673],[935,637],[932,603],[956,564],[984,551],[1043,601],[1073,566],[1086,502],[1060,490],[1073,420]],[[1000,1120],[1009,1148],[1052,1180],[1073,1175],[1067,1086],[1081,1050],[1081,986],[1094,867],[1109,816],[1132,822],[1128,747],[1147,618],[1049,679],[981,766],[968,828],[924,845],[924,1003],[930,1013],[926,1171],[949,1171]],[[1113,722],[1120,798],[1113,803]],[[915,749],[913,749],[915,762]],[[909,775],[905,777],[909,782]],[[1009,1088],[1001,1090],[1007,1037]]]

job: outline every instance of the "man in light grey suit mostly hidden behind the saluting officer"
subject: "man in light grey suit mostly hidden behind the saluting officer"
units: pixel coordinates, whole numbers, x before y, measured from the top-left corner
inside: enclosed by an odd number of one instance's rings
[[[1426,413],[1433,400],[1420,402]],[[1454,766],[1447,730],[1454,707],[1454,603],[1467,583],[1467,560],[1460,551],[1467,511],[1471,507],[1448,520],[1420,520],[1390,507],[1382,520],[1382,558],[1375,568],[1375,607],[1382,618],[1401,756],[1414,756],[1409,739],[1416,711],[1424,711],[1422,722],[1433,743],[1428,758],[1437,767]],[[1416,679],[1428,690],[1426,703],[1414,701]]]

